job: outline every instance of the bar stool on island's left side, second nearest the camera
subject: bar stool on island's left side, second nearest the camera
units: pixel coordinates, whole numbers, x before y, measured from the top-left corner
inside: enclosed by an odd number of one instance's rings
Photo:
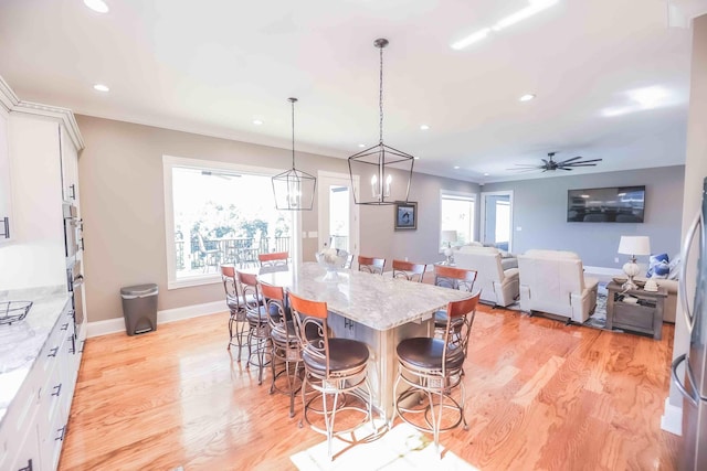
[[[272,342],[271,370],[273,381],[270,394],[278,392],[289,396],[289,417],[295,416],[295,395],[302,387],[299,363],[302,362],[302,344],[292,320],[289,308],[285,303],[285,291],[278,286],[260,281],[261,292],[265,299],[270,339]],[[279,367],[279,370],[278,370]],[[278,379],[285,379],[285,387]],[[281,382],[282,383],[282,382]]]

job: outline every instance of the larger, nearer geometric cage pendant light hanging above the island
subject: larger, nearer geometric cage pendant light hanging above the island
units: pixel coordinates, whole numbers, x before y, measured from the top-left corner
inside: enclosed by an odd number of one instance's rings
[[[408,201],[414,157],[383,143],[383,47],[388,40],[378,39],[373,45],[380,50],[380,140],[349,157],[349,174],[356,204],[395,204]],[[361,178],[359,191],[354,184],[354,175]]]

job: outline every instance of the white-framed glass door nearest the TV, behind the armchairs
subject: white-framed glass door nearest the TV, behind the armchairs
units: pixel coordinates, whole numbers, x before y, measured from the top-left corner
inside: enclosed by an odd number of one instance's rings
[[[513,191],[482,193],[482,243],[511,251]]]

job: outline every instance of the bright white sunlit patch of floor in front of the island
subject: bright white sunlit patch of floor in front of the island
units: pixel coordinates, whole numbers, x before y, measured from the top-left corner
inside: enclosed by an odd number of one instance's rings
[[[362,427],[363,428],[363,427]],[[444,436],[443,436],[444,437]],[[300,471],[348,470],[460,470],[477,471],[451,451],[436,453],[432,436],[422,433],[408,424],[400,424],[377,440],[351,445],[339,439],[333,441],[334,460],[327,456],[327,442],[315,445],[289,457]]]

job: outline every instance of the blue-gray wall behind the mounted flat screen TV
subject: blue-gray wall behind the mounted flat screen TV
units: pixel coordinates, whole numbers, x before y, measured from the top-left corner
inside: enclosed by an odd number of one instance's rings
[[[651,237],[653,253],[667,253],[673,257],[679,251],[684,170],[683,165],[676,165],[562,175],[488,183],[482,191],[514,191],[514,253],[523,254],[531,248],[571,250],[587,266],[621,268],[626,261],[626,256],[616,254],[622,235]],[[567,222],[568,190],[629,185],[646,188],[646,212],[642,224]],[[614,257],[619,257],[619,263]],[[647,264],[647,258],[642,258],[639,263]]]

